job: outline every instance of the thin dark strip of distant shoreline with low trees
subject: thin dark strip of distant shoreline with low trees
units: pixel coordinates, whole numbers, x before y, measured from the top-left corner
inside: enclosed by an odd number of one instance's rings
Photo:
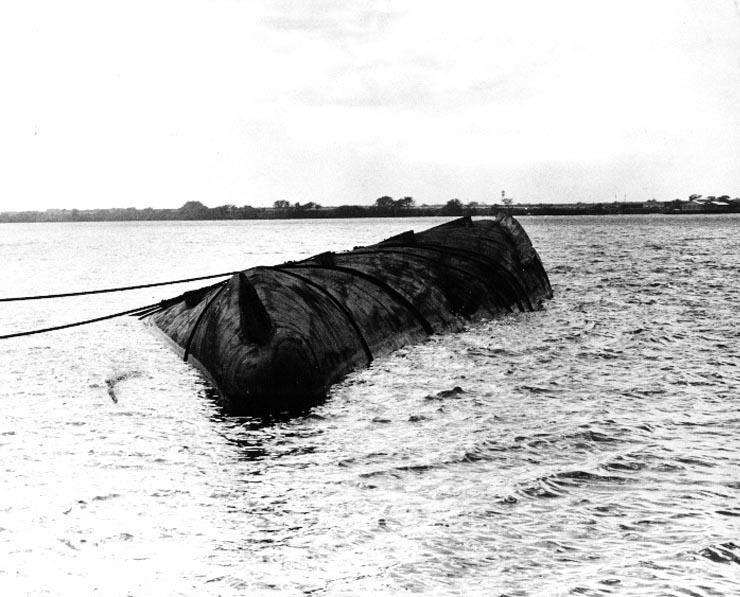
[[[314,203],[290,205],[276,202],[276,207],[222,205],[206,207],[191,201],[178,209],[49,209],[46,211],[16,211],[0,213],[0,223],[35,222],[149,222],[188,220],[294,220],[332,218],[388,218],[433,216],[489,216],[500,211],[514,216],[600,216],[643,214],[727,214],[740,213],[740,199],[729,197],[692,198],[674,201],[612,202],[612,203],[517,203],[462,204],[453,199],[445,205],[414,206],[413,201],[393,201],[383,205],[341,205],[321,207]],[[410,198],[407,198],[410,199]],[[395,205],[394,205],[395,204]]]

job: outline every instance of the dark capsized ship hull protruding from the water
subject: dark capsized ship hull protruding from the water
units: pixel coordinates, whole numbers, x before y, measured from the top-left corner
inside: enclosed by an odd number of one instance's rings
[[[148,320],[239,412],[301,407],[430,334],[541,307],[552,289],[506,214],[254,267],[162,301]]]

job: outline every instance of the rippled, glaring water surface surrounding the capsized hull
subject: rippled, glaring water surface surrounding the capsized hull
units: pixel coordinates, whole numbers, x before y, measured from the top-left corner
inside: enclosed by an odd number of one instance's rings
[[[0,294],[434,223],[0,225]],[[0,341],[0,592],[738,594],[740,218],[522,223],[545,311],[403,349],[288,420],[224,416],[135,319]],[[0,304],[0,333],[182,289]]]

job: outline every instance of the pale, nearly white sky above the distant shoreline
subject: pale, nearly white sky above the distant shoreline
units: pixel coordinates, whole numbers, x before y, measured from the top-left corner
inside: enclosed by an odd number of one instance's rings
[[[0,211],[740,196],[740,0],[18,0],[0,81]]]

